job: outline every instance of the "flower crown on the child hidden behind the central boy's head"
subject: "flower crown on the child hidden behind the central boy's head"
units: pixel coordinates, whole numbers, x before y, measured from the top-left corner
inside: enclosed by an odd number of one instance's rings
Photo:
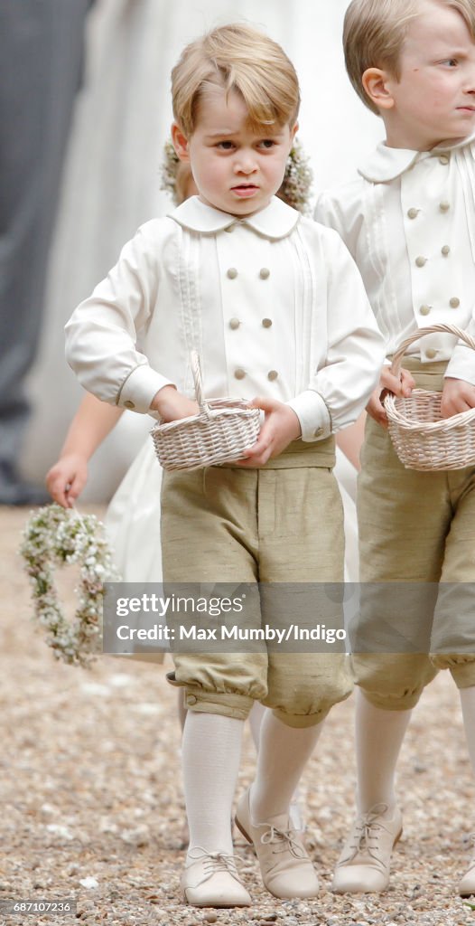
[[[161,190],[172,196],[179,206],[182,202],[181,190],[177,185],[177,171],[180,161],[171,142],[164,144],[164,162],[161,168]],[[297,209],[304,215],[311,213],[310,195],[313,173],[310,159],[304,154],[301,144],[296,141],[292,145],[286,160],[286,172],[280,189],[277,191],[279,199],[283,199],[287,206]]]

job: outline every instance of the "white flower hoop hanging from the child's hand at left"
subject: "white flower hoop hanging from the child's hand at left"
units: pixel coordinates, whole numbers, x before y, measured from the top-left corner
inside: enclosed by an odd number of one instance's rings
[[[35,619],[48,632],[55,657],[87,667],[101,651],[104,581],[117,579],[104,524],[94,515],[49,505],[33,511],[19,552],[33,586]],[[65,618],[55,588],[56,566],[80,564],[79,607]]]

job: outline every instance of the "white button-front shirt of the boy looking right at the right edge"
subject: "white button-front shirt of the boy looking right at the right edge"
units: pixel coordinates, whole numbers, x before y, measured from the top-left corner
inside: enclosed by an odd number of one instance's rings
[[[418,152],[380,144],[360,178],[319,198],[315,219],[355,258],[386,351],[445,323],[475,333],[473,137]],[[475,353],[446,333],[409,349],[422,362],[450,360],[446,375],[475,384]]]

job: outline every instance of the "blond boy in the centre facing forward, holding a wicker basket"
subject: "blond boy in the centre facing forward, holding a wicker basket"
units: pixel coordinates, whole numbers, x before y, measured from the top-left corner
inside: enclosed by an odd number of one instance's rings
[[[172,95],[173,142],[199,195],[126,244],[68,322],[67,357],[99,398],[170,421],[196,411],[194,348],[204,394],[243,396],[264,412],[257,443],[237,464],[164,473],[164,582],[341,582],[333,433],[367,402],[383,340],[338,235],[274,195],[297,131],[295,69],[260,32],[224,26],[184,50]],[[272,620],[265,596],[261,608],[262,620]],[[315,895],[289,803],[325,715],[351,691],[345,654],[174,658],[171,682],[184,687],[189,708],[185,900],[250,904],[230,820],[243,722],[255,700],[272,711],[237,826],[272,894]]]

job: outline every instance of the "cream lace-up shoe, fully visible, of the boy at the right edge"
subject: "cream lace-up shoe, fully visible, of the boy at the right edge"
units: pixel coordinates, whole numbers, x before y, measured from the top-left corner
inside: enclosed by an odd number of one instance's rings
[[[375,804],[357,817],[339,857],[332,891],[335,894],[364,894],[384,891],[389,883],[391,853],[402,835],[402,816],[396,807],[387,820],[387,804]]]

